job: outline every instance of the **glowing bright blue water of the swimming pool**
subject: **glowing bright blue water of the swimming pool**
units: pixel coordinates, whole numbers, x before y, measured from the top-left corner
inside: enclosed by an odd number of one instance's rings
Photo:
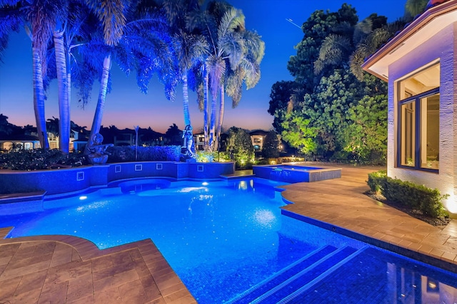
[[[237,295],[271,276],[298,276],[282,270],[321,253],[323,247],[331,247],[334,256],[319,267],[301,270],[303,276],[288,287],[299,291],[308,278],[316,277],[305,293],[277,290],[262,295],[263,303],[284,298],[290,303],[457,301],[457,276],[452,273],[281,215],[284,203],[274,188],[278,182],[156,184],[166,187],[136,183],[141,187],[128,184],[125,193],[113,187],[44,201],[46,211],[0,216],[0,223],[15,227],[11,237],[69,234],[99,248],[151,238],[199,303],[233,298],[243,303]],[[344,263],[336,259],[343,251],[348,251]],[[331,275],[322,273],[323,267]]]

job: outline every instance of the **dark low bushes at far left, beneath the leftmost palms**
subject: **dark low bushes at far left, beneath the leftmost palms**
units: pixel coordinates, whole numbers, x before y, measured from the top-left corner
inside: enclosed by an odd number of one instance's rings
[[[58,149],[21,150],[0,154],[0,168],[11,170],[41,170],[59,167],[79,167],[88,164],[81,152],[64,154]]]

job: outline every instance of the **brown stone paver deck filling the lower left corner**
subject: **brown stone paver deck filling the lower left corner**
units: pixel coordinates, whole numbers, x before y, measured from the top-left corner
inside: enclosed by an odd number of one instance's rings
[[[36,236],[0,240],[0,303],[196,300],[150,240],[100,251],[74,236]]]

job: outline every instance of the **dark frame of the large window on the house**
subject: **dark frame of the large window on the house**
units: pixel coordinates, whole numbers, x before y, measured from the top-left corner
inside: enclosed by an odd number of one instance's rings
[[[398,86],[401,84],[401,80],[398,81]],[[411,97],[405,98],[400,100],[400,92],[398,91],[398,104],[397,104],[397,146],[396,146],[396,167],[403,168],[403,169],[411,169],[411,170],[418,170],[418,171],[426,171],[426,172],[433,172],[439,173],[439,169],[432,169],[432,168],[424,168],[421,167],[421,99],[427,98],[428,96],[440,94],[440,87],[433,88],[423,93],[419,93],[418,95],[413,95]],[[402,140],[402,115],[401,115],[401,106],[407,103],[414,103],[415,111],[414,111],[414,166],[406,166],[401,164],[401,140]]]

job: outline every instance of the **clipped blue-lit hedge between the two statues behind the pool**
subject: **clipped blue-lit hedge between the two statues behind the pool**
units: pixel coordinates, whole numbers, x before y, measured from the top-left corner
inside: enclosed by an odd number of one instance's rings
[[[179,157],[181,156],[181,146],[139,146],[138,150],[135,150],[135,146],[109,147],[107,152],[111,153],[108,157],[108,162],[179,162]]]

